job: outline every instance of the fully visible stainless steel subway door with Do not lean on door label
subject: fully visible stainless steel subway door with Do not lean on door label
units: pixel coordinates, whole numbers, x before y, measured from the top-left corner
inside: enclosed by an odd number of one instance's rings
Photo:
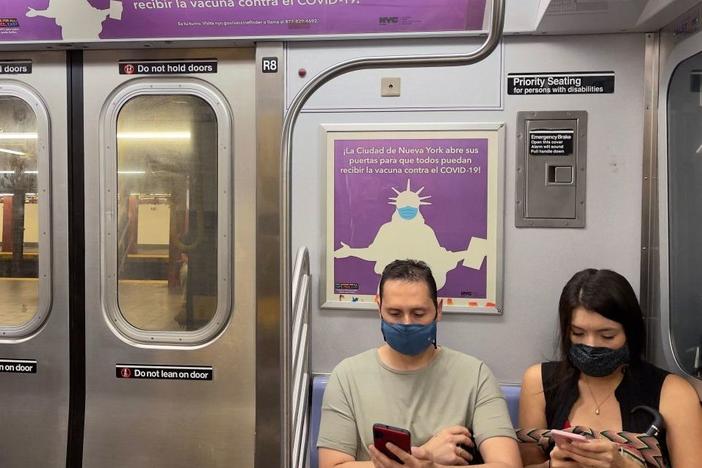
[[[85,53],[85,468],[254,465],[254,61]]]

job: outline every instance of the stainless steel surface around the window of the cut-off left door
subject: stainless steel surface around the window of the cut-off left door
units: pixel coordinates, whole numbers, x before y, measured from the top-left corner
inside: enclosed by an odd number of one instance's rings
[[[31,74],[0,75],[0,95],[3,84],[17,86],[35,95],[46,108],[48,159],[38,161],[38,168],[44,171],[42,177],[50,175],[50,184],[47,177],[41,189],[46,192],[38,195],[39,236],[45,232],[51,239],[43,251],[39,247],[39,255],[46,257],[42,261],[48,260],[46,290],[40,292],[48,306],[45,320],[28,336],[0,336],[0,359],[37,361],[36,374],[0,372],[0,466],[64,467],[69,394],[66,56],[61,52],[3,52],[0,60],[32,61]],[[0,300],[0,307],[8,307],[7,295]]]

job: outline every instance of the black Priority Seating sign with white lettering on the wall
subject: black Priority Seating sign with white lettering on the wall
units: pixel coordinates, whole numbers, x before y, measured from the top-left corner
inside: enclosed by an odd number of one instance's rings
[[[510,73],[507,94],[612,94],[614,72]]]

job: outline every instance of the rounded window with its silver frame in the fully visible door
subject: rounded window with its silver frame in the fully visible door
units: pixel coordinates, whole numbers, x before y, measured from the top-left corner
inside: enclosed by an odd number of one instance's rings
[[[202,343],[231,311],[231,117],[199,80],[133,80],[106,103],[103,303],[128,338]]]

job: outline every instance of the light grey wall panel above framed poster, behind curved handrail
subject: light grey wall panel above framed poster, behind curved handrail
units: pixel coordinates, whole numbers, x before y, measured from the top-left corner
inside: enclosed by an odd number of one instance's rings
[[[482,38],[441,39],[434,42],[404,40],[398,47],[392,41],[310,42],[291,44],[288,49],[287,104],[307,81],[326,68],[354,57],[402,54],[465,54],[476,49]],[[367,111],[383,109],[498,109],[502,106],[504,50],[498,45],[483,61],[452,67],[446,73],[436,67],[400,70],[360,70],[335,78],[310,97],[305,111],[335,109]],[[301,75],[300,70],[305,74]],[[381,96],[381,79],[400,80],[397,96]],[[475,90],[480,90],[476,93]],[[348,97],[353,95],[353,100]]]

